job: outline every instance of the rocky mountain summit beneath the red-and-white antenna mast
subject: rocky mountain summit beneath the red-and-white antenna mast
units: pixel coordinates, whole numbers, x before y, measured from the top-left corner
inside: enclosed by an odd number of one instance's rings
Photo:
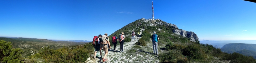
[[[143,29],[144,26],[144,29]],[[167,23],[160,19],[145,19],[141,18],[139,20],[136,20],[123,28],[115,31],[113,34],[110,35],[110,37],[114,36],[114,34],[120,34],[121,32],[124,32],[125,35],[131,35],[132,31],[135,32],[142,32],[144,30],[148,31],[156,31],[156,32],[169,32],[171,35],[180,35],[181,37],[189,38],[192,42],[198,42],[198,36],[192,32],[192,31],[185,31],[182,29],[179,29],[176,25]],[[150,32],[152,34],[152,32]],[[180,37],[179,37],[180,38]]]

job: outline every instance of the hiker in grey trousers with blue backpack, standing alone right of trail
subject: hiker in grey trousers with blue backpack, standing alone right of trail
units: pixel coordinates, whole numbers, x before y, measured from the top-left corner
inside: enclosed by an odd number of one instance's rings
[[[155,31],[153,32],[154,34],[152,35],[152,44],[153,44],[153,50],[154,54],[158,55],[158,49],[157,49],[157,40],[159,40],[158,36],[155,34]]]

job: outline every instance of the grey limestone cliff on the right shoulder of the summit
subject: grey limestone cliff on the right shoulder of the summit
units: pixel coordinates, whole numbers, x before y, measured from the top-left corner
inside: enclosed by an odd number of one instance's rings
[[[192,31],[185,31],[185,30],[182,30],[182,29],[174,29],[173,33],[175,33],[177,35],[181,35],[183,37],[191,38],[190,41],[192,41],[192,42],[198,41],[197,34],[192,32]]]

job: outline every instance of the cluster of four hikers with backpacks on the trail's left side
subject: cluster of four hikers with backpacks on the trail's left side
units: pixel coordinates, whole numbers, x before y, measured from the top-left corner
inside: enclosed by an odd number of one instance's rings
[[[112,43],[114,44],[114,51],[116,51],[116,44],[117,44],[117,41],[119,40],[119,43],[120,43],[120,52],[123,52],[124,51],[124,42],[125,42],[125,35],[124,35],[124,32],[122,32],[120,35],[119,35],[119,39],[117,37],[117,35],[114,35],[112,37]],[[107,54],[108,54],[108,48],[110,49],[110,41],[109,41],[109,37],[107,37],[107,33],[105,33],[103,36],[100,34],[98,37],[97,36],[94,36],[93,38],[93,45],[94,45],[94,58],[96,58],[96,54],[98,51],[100,51],[100,54],[101,54],[101,58],[103,60],[103,62],[107,61]],[[102,57],[102,53],[101,53],[101,50],[103,48],[103,51],[105,52],[104,54],[104,57]]]

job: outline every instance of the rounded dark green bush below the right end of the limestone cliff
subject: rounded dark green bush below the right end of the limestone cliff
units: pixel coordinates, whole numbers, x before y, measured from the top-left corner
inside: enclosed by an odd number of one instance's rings
[[[182,50],[182,54],[185,56],[189,56],[192,59],[203,60],[206,58],[205,51],[200,48],[198,44],[191,44]]]

